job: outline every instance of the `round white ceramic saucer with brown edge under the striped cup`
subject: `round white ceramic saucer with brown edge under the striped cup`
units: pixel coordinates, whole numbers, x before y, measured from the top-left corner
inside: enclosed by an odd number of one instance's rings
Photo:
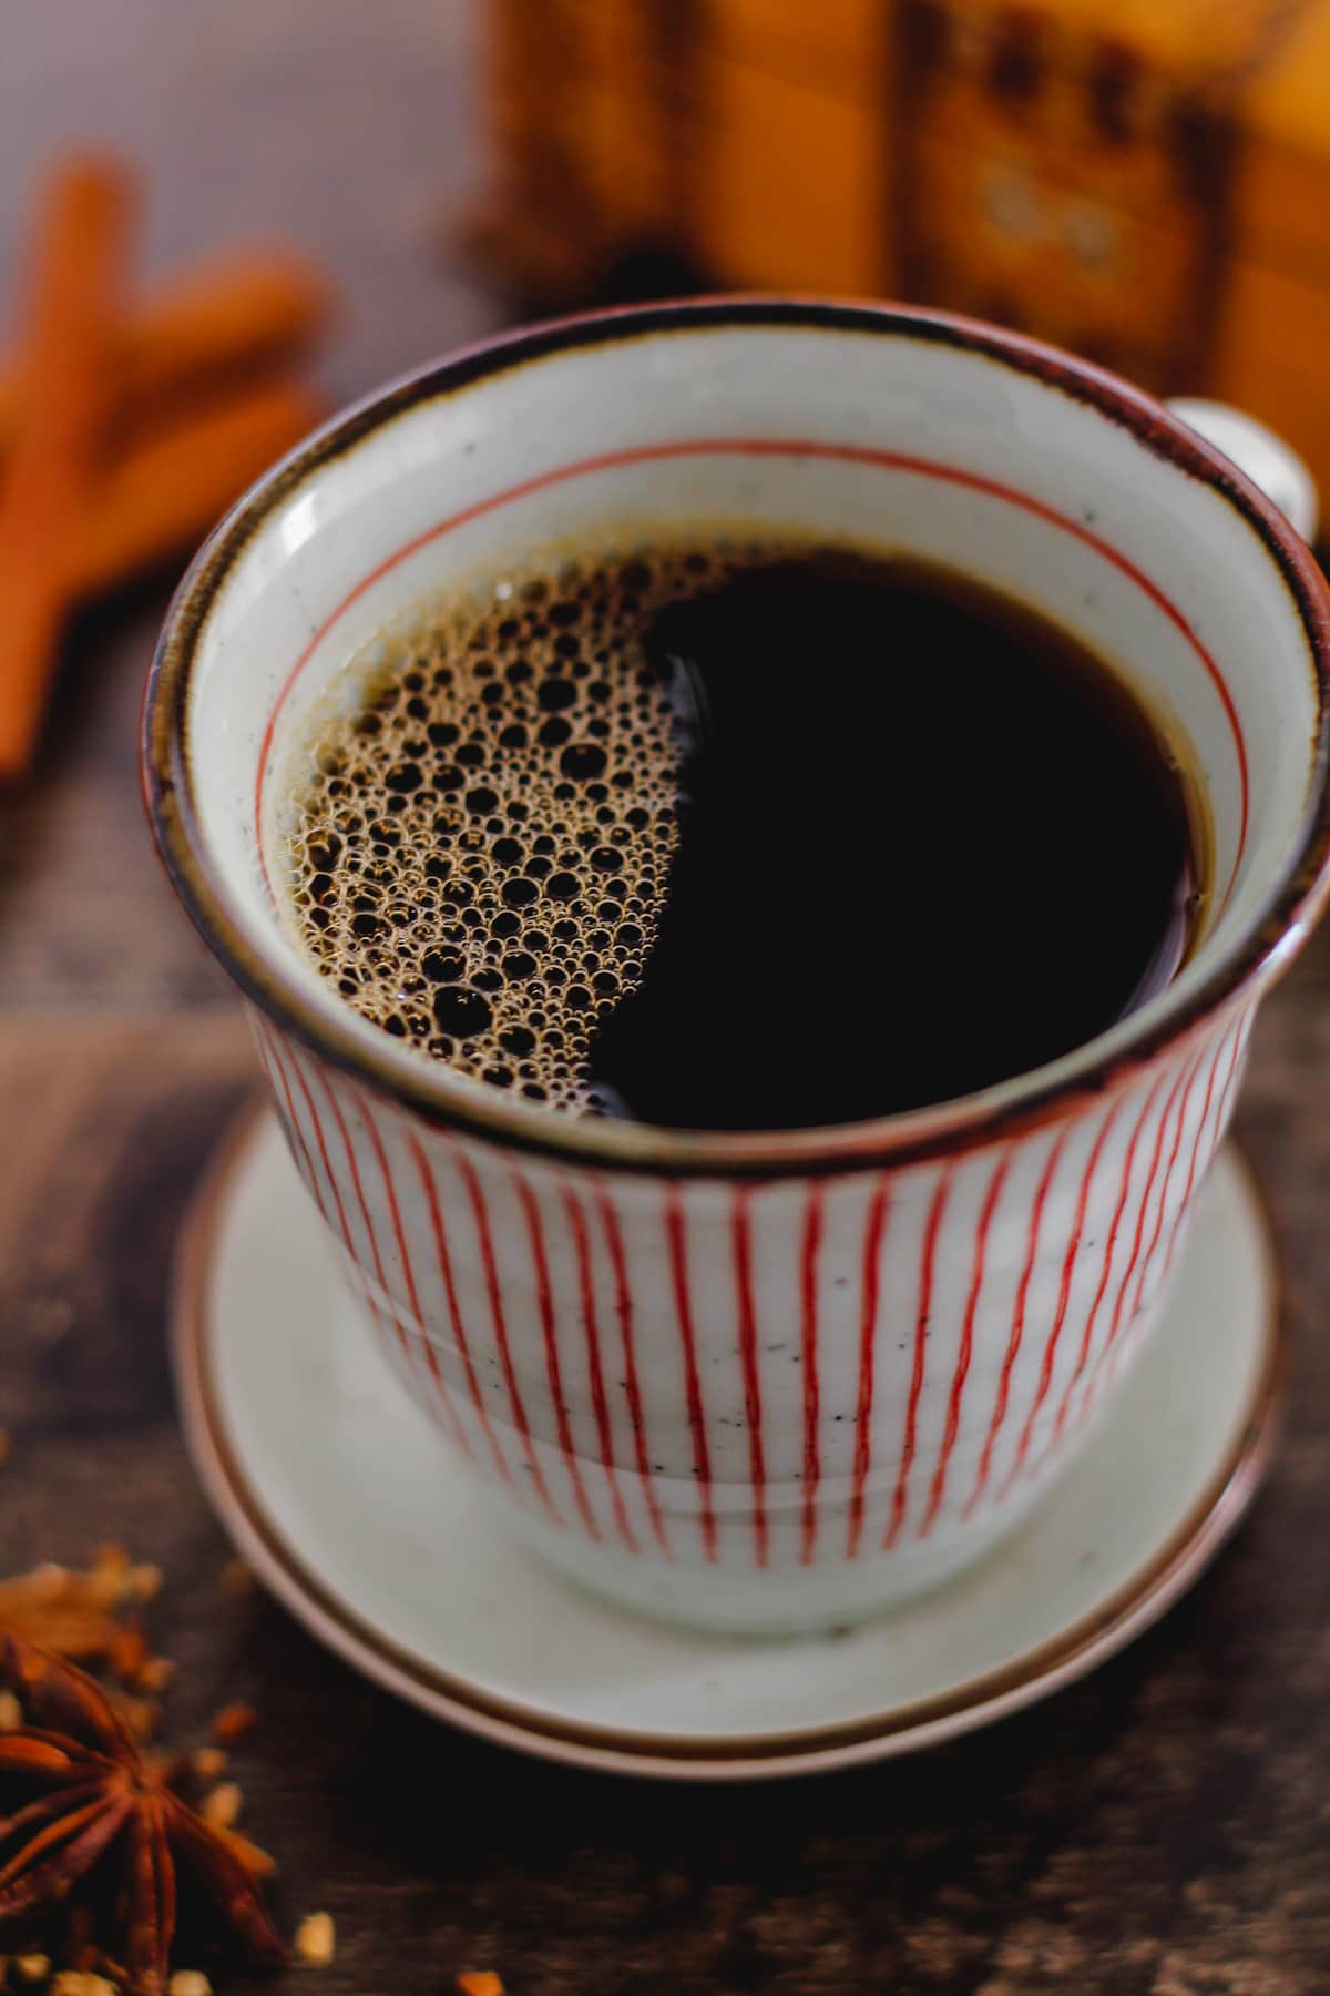
[[[355,1323],[271,1116],[225,1146],[199,1196],[175,1359],[223,1523],[349,1663],[554,1760],[756,1778],[965,1733],[1149,1627],[1260,1483],[1280,1327],[1264,1216],[1228,1152],[1166,1319],[1043,1509],[939,1593],[853,1633],[780,1643],[636,1621],[489,1521]]]

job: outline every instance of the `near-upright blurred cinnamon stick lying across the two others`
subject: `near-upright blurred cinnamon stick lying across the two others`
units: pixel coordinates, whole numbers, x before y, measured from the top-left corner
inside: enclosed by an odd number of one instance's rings
[[[38,202],[20,301],[22,409],[0,485],[0,778],[26,770],[116,405],[132,186],[70,158]]]

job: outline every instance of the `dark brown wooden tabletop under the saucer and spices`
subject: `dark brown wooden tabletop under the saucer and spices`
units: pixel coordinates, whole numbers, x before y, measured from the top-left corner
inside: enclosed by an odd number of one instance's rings
[[[144,162],[154,267],[255,234],[327,261],[333,399],[500,317],[437,257],[477,186],[463,0],[12,8],[0,271],[74,136]],[[227,1591],[181,1451],[171,1248],[253,1070],[140,822],[167,585],[80,619],[38,780],[0,804],[0,1569],[124,1539],[166,1573],[167,1737],[223,1697],[259,1707],[245,1820],[283,1914],[327,1908],[339,1934],[333,1968],[285,1986],[429,1996],[491,1966],[510,1996],[1330,1988],[1330,942],[1270,1002],[1238,1114],[1296,1333],[1286,1435],[1196,1591],[1087,1683],[911,1760],[748,1790],[526,1762]]]

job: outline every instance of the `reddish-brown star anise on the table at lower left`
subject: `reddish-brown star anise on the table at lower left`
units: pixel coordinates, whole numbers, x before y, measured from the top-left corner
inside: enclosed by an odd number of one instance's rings
[[[271,1858],[189,1808],[173,1788],[179,1764],[144,1752],[102,1687],[50,1651],[4,1637],[0,1675],[26,1717],[0,1735],[0,1774],[38,1788],[0,1820],[0,1922],[50,1912],[116,1856],[124,1930],[108,1952],[124,1960],[134,1996],[166,1990],[177,1868],[255,1962],[283,1962],[287,1950],[259,1898]]]

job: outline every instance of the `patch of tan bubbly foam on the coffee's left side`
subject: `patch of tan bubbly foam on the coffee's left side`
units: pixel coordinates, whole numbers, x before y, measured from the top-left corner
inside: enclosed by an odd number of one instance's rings
[[[674,709],[642,639],[738,559],[560,559],[351,661],[283,786],[295,924],[357,1012],[528,1102],[604,1108],[588,1048],[642,974],[678,836]]]

